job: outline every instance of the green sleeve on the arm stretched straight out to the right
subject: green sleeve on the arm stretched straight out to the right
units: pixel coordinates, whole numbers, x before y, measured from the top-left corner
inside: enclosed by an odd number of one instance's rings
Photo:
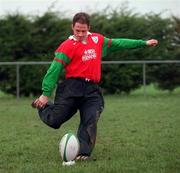
[[[134,39],[109,39],[104,38],[103,44],[103,56],[108,53],[115,52],[123,49],[134,49],[146,46],[146,41],[144,40],[134,40]]]

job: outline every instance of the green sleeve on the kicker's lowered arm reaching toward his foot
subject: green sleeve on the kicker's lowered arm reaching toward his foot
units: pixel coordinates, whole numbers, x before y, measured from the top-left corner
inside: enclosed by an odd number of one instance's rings
[[[55,53],[55,58],[42,82],[42,91],[44,96],[51,96],[51,93],[59,80],[59,75],[62,72],[63,67],[69,63],[70,58],[68,58],[64,53]]]

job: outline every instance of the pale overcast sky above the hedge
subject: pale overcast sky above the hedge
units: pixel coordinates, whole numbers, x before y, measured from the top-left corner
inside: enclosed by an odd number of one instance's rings
[[[72,17],[79,11],[102,11],[107,6],[118,9],[125,2],[129,9],[140,14],[163,12],[165,16],[180,17],[180,0],[0,0],[0,16],[14,12],[42,15],[51,9]]]

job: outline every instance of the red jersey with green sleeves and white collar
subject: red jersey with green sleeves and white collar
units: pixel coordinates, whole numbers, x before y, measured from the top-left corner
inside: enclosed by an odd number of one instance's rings
[[[143,40],[109,39],[97,33],[88,33],[87,43],[70,36],[55,51],[54,60],[43,79],[43,95],[51,95],[63,68],[66,79],[81,77],[98,83],[102,57],[114,51],[144,46],[146,41]]]

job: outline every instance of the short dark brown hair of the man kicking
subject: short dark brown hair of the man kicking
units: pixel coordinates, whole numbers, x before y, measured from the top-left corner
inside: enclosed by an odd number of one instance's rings
[[[81,24],[87,24],[88,26],[90,25],[90,17],[87,13],[80,12],[76,13],[73,17],[73,26],[75,23],[81,23]]]

